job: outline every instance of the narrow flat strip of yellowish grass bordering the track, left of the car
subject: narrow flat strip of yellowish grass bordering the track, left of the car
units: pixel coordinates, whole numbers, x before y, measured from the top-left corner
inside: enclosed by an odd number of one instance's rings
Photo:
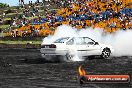
[[[7,41],[2,41],[0,40],[0,43],[4,43],[4,44],[27,44],[27,43],[31,43],[31,44],[41,44],[42,41],[20,41],[20,40],[16,40],[16,41],[11,41],[11,40],[7,40]]]

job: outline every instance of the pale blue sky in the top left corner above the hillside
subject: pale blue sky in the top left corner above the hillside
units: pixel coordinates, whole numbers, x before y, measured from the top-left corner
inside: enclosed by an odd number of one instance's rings
[[[37,0],[24,0],[25,3],[28,3],[29,1],[35,2]],[[42,1],[42,0],[39,0]],[[0,0],[0,3],[7,3],[10,6],[17,6],[19,5],[19,0]]]

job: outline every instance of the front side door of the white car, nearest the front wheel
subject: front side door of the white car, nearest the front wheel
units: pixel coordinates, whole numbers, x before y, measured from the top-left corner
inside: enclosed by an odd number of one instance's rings
[[[95,41],[85,37],[86,55],[100,55],[100,46],[95,44]]]

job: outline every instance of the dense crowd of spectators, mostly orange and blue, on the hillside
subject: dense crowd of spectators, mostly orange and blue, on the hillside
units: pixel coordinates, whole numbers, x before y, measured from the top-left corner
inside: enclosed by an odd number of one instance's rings
[[[38,1],[39,3],[39,1]],[[28,20],[30,14],[36,16],[38,9],[32,2],[25,8],[23,15],[13,18],[12,25],[19,28],[12,30],[11,36],[47,36],[53,34],[56,28],[66,24],[77,28],[103,28],[104,32],[127,30],[132,27],[132,8],[130,0],[47,0],[45,16]],[[50,6],[56,9],[50,10]]]

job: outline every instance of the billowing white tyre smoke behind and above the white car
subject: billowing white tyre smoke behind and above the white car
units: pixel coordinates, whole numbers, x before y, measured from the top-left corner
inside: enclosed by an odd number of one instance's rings
[[[68,25],[61,25],[54,35],[44,38],[42,44],[52,43],[61,37],[85,36],[99,43],[111,45],[114,48],[114,56],[132,56],[132,30],[119,30],[112,34],[104,34],[100,28],[86,28],[77,30]]]

